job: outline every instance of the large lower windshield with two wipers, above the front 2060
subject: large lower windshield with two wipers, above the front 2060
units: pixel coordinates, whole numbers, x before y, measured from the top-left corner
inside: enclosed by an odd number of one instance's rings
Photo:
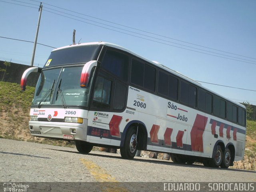
[[[80,87],[82,68],[83,66],[74,66],[42,70],[36,85],[36,91],[32,104],[38,105],[49,89],[53,87],[53,89],[42,100],[40,104],[41,106],[58,105],[64,107],[87,107],[90,94],[90,81],[87,88]],[[92,76],[93,71],[91,77]]]

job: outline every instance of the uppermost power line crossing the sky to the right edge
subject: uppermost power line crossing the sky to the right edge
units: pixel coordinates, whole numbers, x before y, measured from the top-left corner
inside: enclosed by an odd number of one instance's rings
[[[30,1],[34,1],[34,2],[40,2],[40,1],[36,1],[36,0],[30,0]],[[72,10],[68,10],[68,9],[65,9],[65,8],[61,8],[61,7],[58,7],[58,6],[54,6],[54,5],[51,5],[51,4],[47,4],[47,3],[44,3],[46,5],[50,5],[50,6],[53,6],[53,7],[56,7],[56,8],[59,8],[59,9],[63,9],[63,10],[66,10],[66,11],[69,11],[69,12],[74,12],[76,14],[80,14],[80,15],[84,15],[84,16],[88,16],[90,18],[95,18],[95,19],[98,19],[98,20],[102,20],[102,21],[105,21],[105,22],[109,22],[109,23],[112,23],[112,24],[116,24],[116,25],[119,25],[119,26],[124,26],[124,27],[127,27],[127,28],[131,28],[131,29],[134,29],[134,30],[138,30],[138,31],[141,31],[141,32],[146,32],[148,34],[153,34],[153,35],[156,35],[156,36],[161,36],[161,37],[164,37],[164,38],[168,38],[168,39],[172,39],[172,40],[176,40],[176,41],[180,41],[180,42],[184,42],[184,43],[188,43],[188,44],[192,44],[192,45],[196,45],[196,46],[200,46],[200,47],[204,47],[204,48],[208,48],[208,49],[212,49],[212,50],[216,50],[216,51],[220,51],[220,52],[225,52],[225,53],[228,53],[228,54],[233,54],[233,55],[236,55],[236,56],[242,56],[242,57],[246,57],[246,58],[251,58],[251,59],[255,59],[256,58],[252,58],[252,57],[248,57],[248,56],[243,56],[243,55],[239,55],[239,54],[234,54],[234,53],[231,53],[231,52],[226,52],[226,51],[222,51],[222,50],[218,50],[218,49],[214,49],[214,48],[210,48],[210,47],[206,47],[206,46],[201,46],[201,45],[198,45],[198,44],[193,44],[193,43],[190,43],[190,42],[186,42],[186,41],[182,41],[182,40],[178,40],[178,39],[174,39],[174,38],[170,38],[170,37],[167,37],[167,36],[162,36],[160,34],[155,34],[155,33],[152,33],[152,32],[147,32],[145,30],[140,30],[140,29],[137,29],[137,28],[132,28],[132,27],[129,27],[129,26],[126,26],[126,25],[122,25],[122,24],[118,24],[118,23],[115,23],[115,22],[111,22],[111,21],[108,21],[108,20],[103,20],[103,19],[100,19],[100,18],[97,18],[97,17],[93,17],[93,16],[89,16],[89,15],[86,15],[86,14],[82,14],[82,13],[79,13],[79,12],[75,12],[75,11],[72,11]],[[50,9],[50,8],[49,8]],[[57,10],[56,10],[57,11]],[[60,12],[60,11],[59,11]],[[65,13],[67,14],[67,13]],[[85,18],[84,18],[85,19]],[[95,21],[93,21],[95,22]],[[106,24],[104,24],[106,25]],[[114,27],[114,26],[112,26]],[[124,29],[122,29],[124,30]],[[135,32],[134,32],[135,33]],[[145,35],[146,36],[146,35]],[[152,37],[153,38],[153,37]],[[183,45],[185,46],[185,45]],[[217,53],[218,54],[218,53]],[[231,57],[231,56],[230,56]],[[242,59],[242,58],[241,58]]]

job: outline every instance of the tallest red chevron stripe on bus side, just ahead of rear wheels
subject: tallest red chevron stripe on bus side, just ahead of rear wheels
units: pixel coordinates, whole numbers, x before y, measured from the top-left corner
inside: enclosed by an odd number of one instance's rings
[[[206,127],[208,117],[197,114],[194,125],[190,132],[191,148],[193,151],[204,152],[203,134]]]

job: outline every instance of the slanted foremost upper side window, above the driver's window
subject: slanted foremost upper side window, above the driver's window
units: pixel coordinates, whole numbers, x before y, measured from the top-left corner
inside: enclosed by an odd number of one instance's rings
[[[121,80],[128,79],[129,58],[125,54],[107,50],[101,63],[102,68],[118,76]]]

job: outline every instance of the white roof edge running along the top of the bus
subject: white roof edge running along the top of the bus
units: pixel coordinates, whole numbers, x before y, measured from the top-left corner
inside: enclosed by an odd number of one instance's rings
[[[199,86],[199,87],[201,87],[201,88],[204,88],[205,90],[207,90],[207,91],[209,91],[209,92],[212,92],[213,94],[215,94],[215,95],[217,95],[217,96],[220,96],[220,97],[224,98],[224,97],[221,96],[220,94],[217,94],[216,92],[213,92],[212,90],[209,90],[208,88],[202,86],[202,84],[200,84],[200,83],[197,82],[196,80],[193,80],[193,79],[191,79],[191,78],[189,78],[189,77],[187,77],[187,76],[181,74],[180,72],[177,72],[177,71],[175,71],[175,70],[172,70],[172,69],[170,69],[170,68],[164,66],[163,64],[160,64],[159,62],[148,60],[147,58],[144,58],[143,56],[140,56],[140,55],[138,55],[138,54],[136,54],[136,53],[134,53],[134,52],[132,52],[132,51],[130,51],[130,50],[128,50],[128,49],[122,47],[122,46],[116,45],[116,44],[112,44],[112,43],[108,43],[108,42],[80,43],[80,44],[75,44],[75,45],[69,45],[69,46],[64,46],[64,47],[56,48],[56,49],[52,50],[52,52],[57,51],[57,50],[61,50],[61,49],[71,48],[71,47],[90,46],[90,45],[105,45],[105,46],[108,46],[108,47],[112,47],[112,48],[116,48],[116,49],[119,49],[119,50],[123,50],[123,51],[128,52],[128,53],[130,53],[130,54],[132,54],[132,55],[134,55],[134,56],[136,56],[136,57],[138,57],[138,58],[141,58],[142,60],[146,60],[147,62],[150,62],[151,64],[153,64],[153,65],[155,65],[155,66],[158,66],[159,68],[162,68],[162,69],[164,69],[164,70],[166,70],[166,71],[168,71],[168,72],[170,72],[170,73],[172,73],[172,74],[174,74],[174,75],[176,75],[176,76],[178,76],[178,77],[180,77],[180,78],[183,78],[183,79],[185,79],[185,80],[187,80],[187,81],[189,81],[189,82],[191,82],[191,83],[193,83],[193,84],[196,84],[197,86]],[[232,100],[230,100],[230,99],[228,99],[228,98],[225,98],[225,99],[228,100],[228,101],[230,101],[230,102],[232,102],[232,103],[235,103],[236,105],[238,105],[238,106],[240,106],[240,107],[242,107],[242,108],[245,108],[244,105],[242,105],[242,104],[240,104],[240,103],[238,103],[238,102],[234,102],[234,101],[232,101]]]

